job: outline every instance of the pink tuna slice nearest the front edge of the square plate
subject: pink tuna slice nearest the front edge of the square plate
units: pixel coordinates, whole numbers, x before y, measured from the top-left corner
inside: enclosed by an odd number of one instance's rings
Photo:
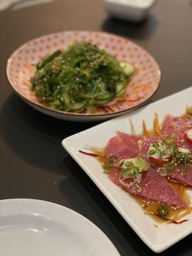
[[[134,184],[131,188],[126,188],[120,183],[120,168],[111,167],[110,169],[111,173],[109,174],[109,179],[133,195],[141,196],[169,206],[179,206],[180,208],[188,207],[188,204],[180,198],[168,181],[151,168],[147,172],[144,172],[141,183]],[[141,191],[137,188],[138,185],[140,186]]]

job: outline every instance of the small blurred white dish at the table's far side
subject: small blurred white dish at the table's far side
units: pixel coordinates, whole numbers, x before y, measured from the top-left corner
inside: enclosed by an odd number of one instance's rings
[[[114,17],[139,22],[147,17],[156,0],[104,0],[106,10]]]

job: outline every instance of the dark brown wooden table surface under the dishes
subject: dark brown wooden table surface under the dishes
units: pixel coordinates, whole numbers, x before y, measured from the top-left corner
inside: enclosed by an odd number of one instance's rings
[[[156,58],[162,79],[152,101],[161,99],[191,86],[192,1],[159,0],[147,20],[131,24],[109,18],[100,0],[55,0],[1,12],[0,24],[0,198],[36,198],[65,205],[100,227],[120,255],[155,255],[61,147],[63,138],[94,124],[56,120],[27,106],[6,80],[6,60],[20,44],[47,33],[108,31],[130,38]],[[191,239],[186,237],[160,255],[192,255]]]

